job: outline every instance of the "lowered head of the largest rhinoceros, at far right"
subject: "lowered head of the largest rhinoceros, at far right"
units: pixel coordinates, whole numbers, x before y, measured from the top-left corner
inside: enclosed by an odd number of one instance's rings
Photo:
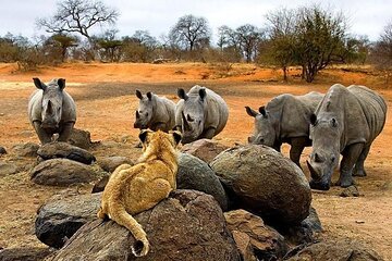
[[[314,189],[328,190],[331,177],[339,163],[340,156],[340,124],[331,114],[317,117],[310,116],[310,138],[313,151],[309,161],[306,161]]]

